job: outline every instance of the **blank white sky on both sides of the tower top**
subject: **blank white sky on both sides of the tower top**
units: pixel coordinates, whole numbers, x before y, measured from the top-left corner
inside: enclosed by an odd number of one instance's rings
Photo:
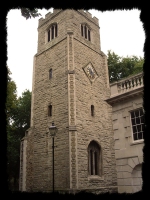
[[[21,11],[10,10],[7,15],[7,65],[17,85],[18,96],[25,89],[32,91],[33,56],[37,53],[38,19],[53,9],[39,10],[42,16],[26,20]],[[119,56],[144,57],[145,32],[140,21],[140,10],[100,12],[89,10],[99,19],[101,50]]]

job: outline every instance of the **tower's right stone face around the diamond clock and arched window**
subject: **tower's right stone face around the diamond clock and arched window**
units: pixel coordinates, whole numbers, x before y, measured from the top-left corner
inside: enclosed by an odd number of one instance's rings
[[[109,94],[105,56],[100,51],[74,40],[76,115],[78,148],[78,188],[113,187],[117,185],[111,107],[104,101]],[[98,78],[91,84],[82,67],[93,64]],[[94,117],[91,116],[94,105]],[[102,148],[103,175],[99,179],[88,179],[88,145],[97,141]]]

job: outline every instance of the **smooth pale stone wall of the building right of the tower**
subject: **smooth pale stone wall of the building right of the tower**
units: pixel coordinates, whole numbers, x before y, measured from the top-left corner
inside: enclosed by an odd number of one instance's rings
[[[130,111],[141,108],[142,96],[124,100],[113,105],[113,129],[115,139],[115,157],[117,168],[118,192],[133,193],[142,189],[142,170],[134,176],[134,169],[142,165],[144,141],[133,142]]]

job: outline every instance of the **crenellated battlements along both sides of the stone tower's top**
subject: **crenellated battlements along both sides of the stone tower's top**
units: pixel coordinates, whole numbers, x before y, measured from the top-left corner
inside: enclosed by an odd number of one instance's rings
[[[53,18],[56,14],[63,11],[62,9],[53,9],[53,13],[49,12],[45,15],[45,18],[41,17],[39,19],[39,27],[45,24],[47,21],[49,21],[51,18]],[[91,20],[93,23],[99,25],[99,20],[96,17],[92,17],[92,14],[88,11],[84,10],[77,10],[81,15],[85,16],[89,20]]]

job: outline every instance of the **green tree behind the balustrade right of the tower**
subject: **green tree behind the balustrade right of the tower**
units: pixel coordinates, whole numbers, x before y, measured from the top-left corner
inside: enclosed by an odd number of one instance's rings
[[[120,57],[109,50],[107,61],[110,83],[143,71],[144,59],[141,57]]]

